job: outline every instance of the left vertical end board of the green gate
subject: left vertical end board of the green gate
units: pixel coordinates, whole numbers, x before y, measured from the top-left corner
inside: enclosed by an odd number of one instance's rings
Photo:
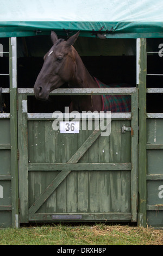
[[[18,94],[18,162],[20,222],[28,223],[28,123],[27,113],[22,113],[22,100],[27,100],[26,94]]]

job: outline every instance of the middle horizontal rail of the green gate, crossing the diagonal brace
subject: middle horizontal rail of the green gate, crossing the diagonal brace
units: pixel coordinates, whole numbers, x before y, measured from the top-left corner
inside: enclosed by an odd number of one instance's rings
[[[131,170],[131,163],[28,163],[28,170]]]

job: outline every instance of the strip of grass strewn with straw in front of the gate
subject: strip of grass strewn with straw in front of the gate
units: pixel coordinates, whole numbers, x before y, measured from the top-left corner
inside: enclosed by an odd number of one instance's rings
[[[0,245],[163,245],[163,230],[128,225],[44,225],[0,230]]]

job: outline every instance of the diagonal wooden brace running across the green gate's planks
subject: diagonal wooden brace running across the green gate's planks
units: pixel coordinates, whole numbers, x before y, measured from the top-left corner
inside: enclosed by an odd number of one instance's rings
[[[93,142],[96,141],[100,135],[101,130],[95,130],[91,133],[89,138],[83,143],[83,145],[77,150],[77,152],[71,157],[67,163],[77,163],[79,159],[84,155],[87,149],[91,147]],[[34,204],[29,209],[29,214],[34,214],[40,206],[47,200],[47,198],[53,193],[53,191],[59,186],[59,184],[66,178],[66,176],[71,172],[71,170],[62,170],[57,178],[55,178],[51,184],[46,188],[45,191],[40,195],[39,198],[34,202]]]

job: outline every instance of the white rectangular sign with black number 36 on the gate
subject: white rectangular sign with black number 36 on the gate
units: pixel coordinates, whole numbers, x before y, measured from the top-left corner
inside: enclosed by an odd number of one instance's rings
[[[79,121],[61,121],[60,133],[79,133]]]

